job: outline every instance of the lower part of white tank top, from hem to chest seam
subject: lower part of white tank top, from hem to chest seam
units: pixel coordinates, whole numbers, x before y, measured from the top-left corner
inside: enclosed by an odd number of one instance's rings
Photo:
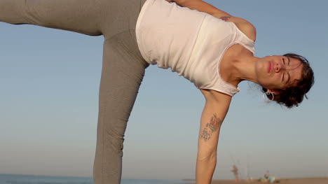
[[[164,0],[146,1],[136,27],[146,62],[172,70],[188,62],[206,15]]]

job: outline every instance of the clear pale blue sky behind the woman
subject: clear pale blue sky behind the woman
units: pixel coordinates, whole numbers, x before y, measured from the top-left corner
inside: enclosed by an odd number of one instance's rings
[[[221,127],[214,179],[328,177],[328,1],[207,1],[257,27],[256,56],[296,52],[315,85],[298,108],[242,82]],[[0,22],[0,173],[92,176],[102,36]],[[125,132],[123,178],[194,178],[205,99],[149,66]]]

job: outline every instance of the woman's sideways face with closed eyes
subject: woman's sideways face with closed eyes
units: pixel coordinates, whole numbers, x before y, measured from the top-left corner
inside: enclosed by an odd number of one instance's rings
[[[301,79],[303,64],[299,59],[280,55],[259,59],[255,66],[259,85],[268,90],[282,90]]]

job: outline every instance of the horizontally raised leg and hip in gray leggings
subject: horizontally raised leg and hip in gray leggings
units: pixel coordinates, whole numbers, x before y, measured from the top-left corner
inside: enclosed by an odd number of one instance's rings
[[[0,21],[114,36],[135,29],[146,0],[0,0]]]

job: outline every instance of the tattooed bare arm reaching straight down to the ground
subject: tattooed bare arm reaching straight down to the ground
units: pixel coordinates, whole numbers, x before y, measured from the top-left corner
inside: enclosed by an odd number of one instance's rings
[[[206,104],[200,120],[198,154],[196,162],[196,184],[210,184],[217,164],[217,144],[231,97],[219,92],[203,91]],[[209,94],[205,94],[209,93]],[[215,98],[212,94],[216,95]]]

